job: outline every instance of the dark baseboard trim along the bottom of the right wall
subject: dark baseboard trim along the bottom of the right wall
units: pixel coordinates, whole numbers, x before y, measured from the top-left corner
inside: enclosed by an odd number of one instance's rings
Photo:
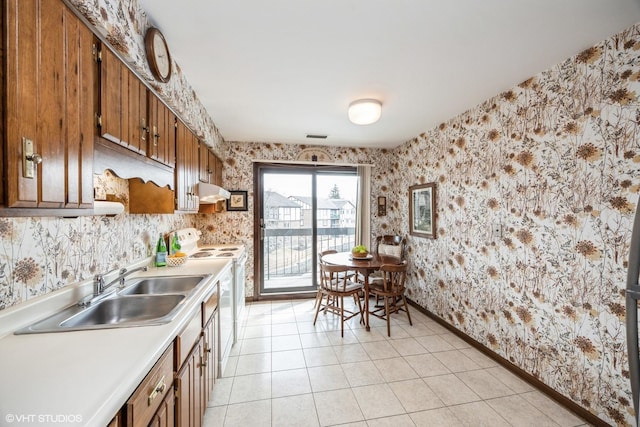
[[[528,372],[524,371],[523,369],[517,367],[516,365],[514,365],[511,362],[509,362],[504,357],[500,356],[498,353],[496,353],[496,352],[492,351],[491,349],[489,349],[488,347],[482,345],[480,342],[474,340],[469,335],[467,335],[464,332],[460,331],[459,329],[457,329],[455,326],[451,325],[450,323],[447,323],[441,317],[439,317],[436,314],[432,313],[431,311],[425,309],[424,307],[418,305],[417,303],[415,303],[414,301],[412,301],[409,298],[407,298],[407,301],[409,302],[409,305],[411,305],[413,308],[415,308],[416,310],[418,310],[422,314],[428,316],[430,319],[434,320],[435,322],[437,322],[441,326],[447,328],[449,331],[451,331],[454,334],[456,334],[458,337],[463,339],[465,342],[467,342],[468,344],[470,344],[471,346],[473,346],[477,350],[481,351],[484,355],[486,355],[487,357],[490,357],[491,359],[495,360],[501,366],[507,368],[513,374],[515,374],[518,377],[520,377],[521,379],[525,380],[526,382],[528,382],[529,384],[531,384],[532,386],[534,386],[535,388],[537,388],[538,390],[540,390],[541,392],[543,392],[544,394],[549,396],[551,399],[555,400],[557,403],[559,403],[560,405],[564,406],[565,408],[567,408],[568,410],[570,410],[571,412],[573,412],[574,414],[576,414],[577,416],[582,418],[585,422],[587,422],[587,423],[589,423],[591,425],[594,425],[594,426],[603,426],[603,427],[610,426],[610,424],[607,424],[605,421],[601,420],[596,415],[594,415],[591,412],[587,411],[582,406],[576,404],[571,399],[569,399],[569,398],[563,396],[562,394],[558,393],[553,388],[549,387],[547,384],[543,383],[542,381],[540,381],[539,379],[537,379],[536,377],[534,377],[530,373],[528,373]]]

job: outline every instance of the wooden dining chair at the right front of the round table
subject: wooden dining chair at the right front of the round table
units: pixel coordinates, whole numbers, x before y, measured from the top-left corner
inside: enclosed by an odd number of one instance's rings
[[[369,314],[387,321],[387,335],[391,336],[391,315],[399,311],[405,311],[409,324],[411,322],[411,314],[409,314],[409,305],[404,296],[404,282],[407,278],[407,261],[402,264],[383,264],[380,267],[382,273],[381,281],[373,281],[369,283],[369,295],[384,300],[383,306],[376,305]]]

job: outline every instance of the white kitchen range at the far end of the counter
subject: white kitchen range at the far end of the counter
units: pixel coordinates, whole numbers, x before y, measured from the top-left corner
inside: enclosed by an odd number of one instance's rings
[[[247,252],[244,244],[201,245],[202,233],[195,228],[177,230],[182,251],[189,260],[228,258],[232,261],[231,283],[220,283],[220,363],[226,364],[231,347],[238,342],[245,309],[245,266]],[[224,282],[224,281],[223,281]],[[220,367],[224,372],[224,366]]]

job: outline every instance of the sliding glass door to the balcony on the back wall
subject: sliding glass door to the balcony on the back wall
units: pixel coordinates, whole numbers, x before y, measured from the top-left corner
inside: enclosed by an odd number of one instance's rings
[[[258,165],[259,294],[315,292],[318,253],[355,241],[353,167]]]

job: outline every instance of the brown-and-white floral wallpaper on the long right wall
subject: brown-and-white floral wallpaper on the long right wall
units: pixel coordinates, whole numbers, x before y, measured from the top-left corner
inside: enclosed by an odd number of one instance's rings
[[[634,424],[639,79],[637,25],[393,152],[402,224],[404,189],[437,183],[437,239],[409,239],[411,299],[618,425]]]

